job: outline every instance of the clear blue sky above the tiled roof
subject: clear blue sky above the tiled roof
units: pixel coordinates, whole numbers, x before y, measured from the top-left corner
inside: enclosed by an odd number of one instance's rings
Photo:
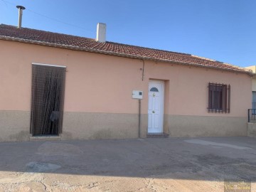
[[[0,23],[256,65],[255,0],[0,0]]]

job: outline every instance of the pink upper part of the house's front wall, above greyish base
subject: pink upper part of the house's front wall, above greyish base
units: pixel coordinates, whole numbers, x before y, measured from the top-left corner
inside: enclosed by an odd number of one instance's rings
[[[137,114],[132,90],[143,90],[142,113],[147,114],[149,79],[165,80],[165,114],[246,117],[251,78],[242,73],[171,63],[100,55],[82,51],[0,41],[0,110],[29,111],[31,63],[67,66],[65,112]],[[231,85],[230,114],[208,113],[208,82]]]

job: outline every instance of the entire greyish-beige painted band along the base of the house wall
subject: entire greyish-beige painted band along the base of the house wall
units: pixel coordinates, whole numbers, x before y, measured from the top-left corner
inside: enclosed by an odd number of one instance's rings
[[[64,112],[63,133],[58,139],[138,138],[138,114]],[[147,133],[148,115],[142,114],[141,137]],[[0,111],[0,142],[32,141],[30,112]],[[256,135],[256,125],[248,125]],[[170,137],[246,136],[247,117],[164,115],[164,132]],[[252,134],[250,134],[252,136]],[[37,138],[38,139],[44,139]],[[52,139],[52,138],[50,138]]]

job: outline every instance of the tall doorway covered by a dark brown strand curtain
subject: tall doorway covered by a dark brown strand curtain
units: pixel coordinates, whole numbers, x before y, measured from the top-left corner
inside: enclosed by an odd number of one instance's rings
[[[65,68],[32,65],[31,134],[62,132]]]

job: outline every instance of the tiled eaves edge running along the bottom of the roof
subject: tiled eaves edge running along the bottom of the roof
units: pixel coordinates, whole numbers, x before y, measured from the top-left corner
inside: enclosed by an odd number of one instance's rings
[[[97,50],[97,49],[92,49],[92,48],[81,48],[79,46],[68,46],[60,43],[48,43],[45,41],[33,41],[33,40],[27,40],[23,38],[14,38],[10,36],[0,36],[0,40],[4,41],[16,41],[20,43],[29,43],[29,44],[34,44],[38,46],[49,46],[53,48],[65,48],[69,50],[79,50],[79,51],[85,51],[85,52],[90,52],[90,53],[100,53],[104,55],[114,55],[118,57],[124,57],[124,58],[133,58],[133,59],[141,59],[141,60],[152,60],[152,61],[160,61],[164,63],[174,63],[178,65],[189,65],[189,66],[194,66],[194,67],[200,67],[200,68],[211,68],[215,70],[225,70],[225,71],[230,71],[230,72],[235,72],[235,73],[245,73],[247,75],[252,76],[253,73],[250,72],[249,70],[246,70],[245,68],[241,68],[242,70],[237,70],[235,69],[228,69],[228,68],[218,68],[214,66],[208,66],[208,65],[201,65],[201,64],[196,64],[196,63],[185,63],[181,61],[176,61],[176,60],[165,60],[165,59],[159,59],[159,58],[150,58],[150,57],[144,57],[144,56],[138,56],[138,55],[131,55],[127,53],[116,53],[110,50]]]

